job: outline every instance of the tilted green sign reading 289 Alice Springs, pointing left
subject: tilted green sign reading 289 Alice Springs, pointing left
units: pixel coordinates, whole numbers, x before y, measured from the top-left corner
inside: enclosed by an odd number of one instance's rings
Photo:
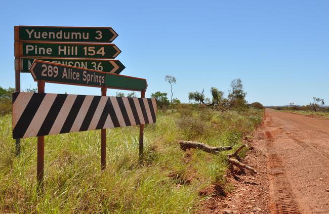
[[[34,60],[30,72],[34,80],[110,89],[144,91],[146,79]]]

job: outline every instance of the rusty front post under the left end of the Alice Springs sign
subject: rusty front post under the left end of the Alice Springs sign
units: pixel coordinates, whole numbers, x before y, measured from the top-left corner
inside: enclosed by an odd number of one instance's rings
[[[45,81],[37,82],[37,92],[45,93]],[[45,136],[37,137],[37,163],[36,163],[36,179],[38,190],[44,191],[44,165],[45,165]]]

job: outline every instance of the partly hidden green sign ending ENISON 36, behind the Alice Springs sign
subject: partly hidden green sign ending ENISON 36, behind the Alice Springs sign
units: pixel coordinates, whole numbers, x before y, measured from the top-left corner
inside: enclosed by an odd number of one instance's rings
[[[21,59],[21,72],[30,72],[29,69],[33,64],[33,58]],[[119,60],[93,60],[93,59],[61,59],[61,58],[39,58],[37,60],[43,60],[48,62],[59,63],[63,65],[70,65],[80,68],[88,68],[98,71],[104,71],[109,73],[119,74],[126,67]]]

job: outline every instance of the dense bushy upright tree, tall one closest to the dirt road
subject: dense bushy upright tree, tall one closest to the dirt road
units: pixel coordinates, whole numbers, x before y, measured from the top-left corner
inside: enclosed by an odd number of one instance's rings
[[[229,102],[231,102],[231,106],[236,109],[246,108],[246,93],[243,91],[242,80],[240,78],[233,79],[230,86],[231,88],[227,97]]]

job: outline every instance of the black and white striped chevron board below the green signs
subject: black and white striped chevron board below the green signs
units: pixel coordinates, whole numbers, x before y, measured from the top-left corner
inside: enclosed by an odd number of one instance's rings
[[[13,138],[155,123],[156,102],[49,93],[13,93]]]

